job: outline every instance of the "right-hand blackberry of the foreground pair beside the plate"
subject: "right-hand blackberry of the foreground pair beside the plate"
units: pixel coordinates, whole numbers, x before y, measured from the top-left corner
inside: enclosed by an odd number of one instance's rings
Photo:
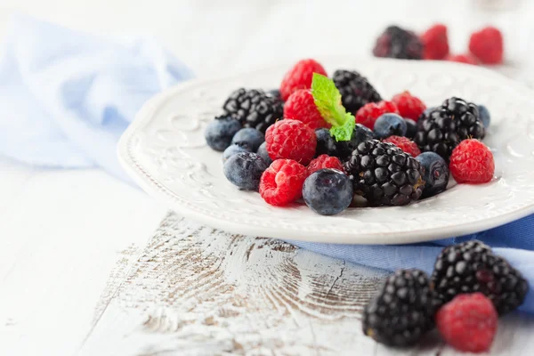
[[[445,247],[436,260],[432,283],[441,303],[459,294],[481,292],[499,315],[514,311],[529,290],[519,271],[477,240]]]

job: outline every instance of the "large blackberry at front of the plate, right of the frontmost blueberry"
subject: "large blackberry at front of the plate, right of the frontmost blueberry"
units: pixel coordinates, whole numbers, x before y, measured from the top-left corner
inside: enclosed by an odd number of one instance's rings
[[[389,142],[361,142],[344,163],[354,193],[372,206],[404,206],[417,200],[425,182],[416,158]]]

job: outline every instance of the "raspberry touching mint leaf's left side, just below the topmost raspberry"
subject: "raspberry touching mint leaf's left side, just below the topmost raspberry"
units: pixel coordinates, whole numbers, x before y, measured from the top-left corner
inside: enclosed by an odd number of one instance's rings
[[[284,117],[302,121],[313,130],[320,127],[330,127],[315,106],[312,91],[309,89],[299,89],[289,95],[284,104]]]

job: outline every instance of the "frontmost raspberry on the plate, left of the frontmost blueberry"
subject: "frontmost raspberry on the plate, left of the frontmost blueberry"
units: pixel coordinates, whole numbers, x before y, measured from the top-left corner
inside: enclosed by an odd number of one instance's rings
[[[306,168],[291,159],[277,159],[262,174],[260,195],[271,206],[286,206],[301,198]]]

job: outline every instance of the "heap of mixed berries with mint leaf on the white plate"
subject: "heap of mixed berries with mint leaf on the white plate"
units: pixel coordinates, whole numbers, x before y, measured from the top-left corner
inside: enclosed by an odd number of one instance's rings
[[[231,183],[273,206],[303,198],[329,215],[360,197],[368,206],[408,205],[446,190],[450,175],[458,183],[493,178],[493,156],[479,141],[490,125],[485,107],[452,97],[427,108],[408,91],[386,101],[356,71],[326,74],[303,60],[279,90],[231,93],[206,127]]]

